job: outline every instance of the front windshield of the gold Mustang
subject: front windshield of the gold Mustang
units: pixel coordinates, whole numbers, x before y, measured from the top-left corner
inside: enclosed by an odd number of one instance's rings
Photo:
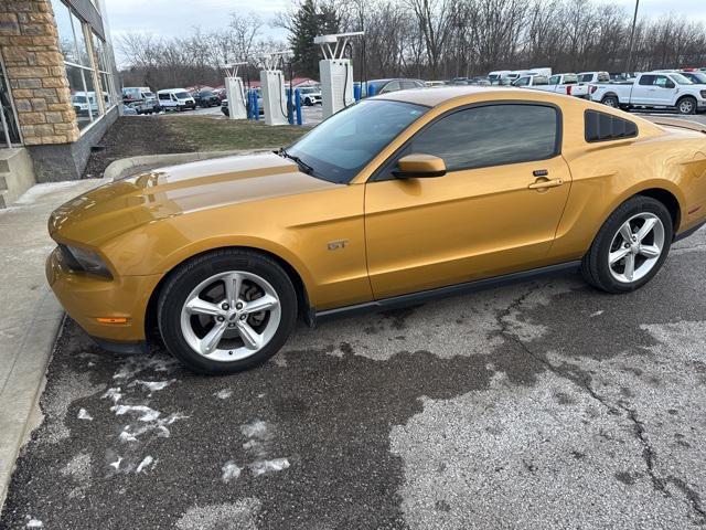
[[[287,153],[310,166],[313,177],[347,183],[427,110],[409,103],[362,100],[322,121]]]

